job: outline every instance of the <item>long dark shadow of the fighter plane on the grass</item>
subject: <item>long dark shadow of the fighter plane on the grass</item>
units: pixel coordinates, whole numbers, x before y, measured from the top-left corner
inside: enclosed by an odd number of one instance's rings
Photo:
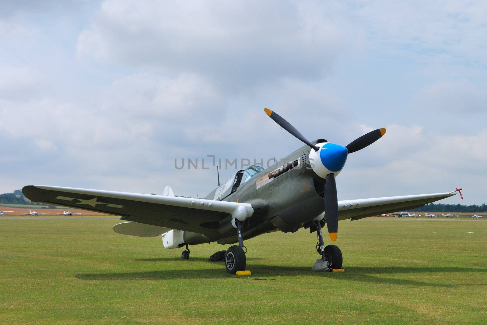
[[[160,259],[149,259],[160,260]],[[164,259],[163,259],[164,260]],[[172,259],[170,259],[172,260]],[[202,258],[202,260],[204,260]],[[208,262],[223,264],[223,262]],[[417,287],[457,287],[462,286],[455,284],[453,281],[458,278],[452,277],[451,284],[428,283],[410,279],[391,279],[384,278],[380,274],[398,274],[398,273],[450,273],[450,272],[487,272],[487,268],[431,268],[431,267],[398,267],[398,268],[370,268],[370,267],[349,267],[345,273],[330,272],[313,272],[311,267],[279,267],[268,265],[252,265],[250,267],[252,276],[246,279],[265,280],[263,277],[269,277],[273,280],[279,276],[302,276],[316,274],[322,277],[340,278],[346,281],[370,282],[377,284],[393,284]],[[75,277],[80,280],[170,280],[170,279],[212,279],[225,277],[225,270],[216,269],[174,269],[146,272],[120,272],[120,273],[84,273],[76,274]],[[257,277],[257,278],[255,278]],[[269,280],[270,280],[269,279]],[[487,283],[477,284],[486,286]]]

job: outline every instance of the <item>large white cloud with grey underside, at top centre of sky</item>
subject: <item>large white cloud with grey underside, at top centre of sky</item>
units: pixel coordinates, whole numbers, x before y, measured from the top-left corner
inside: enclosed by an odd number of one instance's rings
[[[239,88],[291,76],[319,79],[343,38],[355,34],[333,14],[297,2],[105,1],[79,37],[80,57],[196,73]]]

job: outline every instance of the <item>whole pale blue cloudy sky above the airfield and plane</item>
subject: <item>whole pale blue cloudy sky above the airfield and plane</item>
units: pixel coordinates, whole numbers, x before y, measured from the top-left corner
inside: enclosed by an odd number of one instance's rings
[[[485,1],[2,1],[0,192],[206,195],[214,168],[175,158],[301,146],[268,107],[342,145],[387,128],[338,199],[487,203],[486,89]]]

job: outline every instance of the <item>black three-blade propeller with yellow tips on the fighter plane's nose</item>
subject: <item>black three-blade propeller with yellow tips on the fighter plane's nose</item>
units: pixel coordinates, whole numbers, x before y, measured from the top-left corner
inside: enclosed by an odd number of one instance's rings
[[[296,138],[301,140],[304,144],[308,145],[310,148],[312,148],[315,152],[318,152],[320,148],[308,139],[304,137],[294,126],[292,126],[288,121],[286,121],[284,118],[281,117],[281,115],[264,108],[264,111],[267,115],[269,115],[270,118],[272,118],[277,124],[279,124],[284,130],[289,132],[290,134],[294,135]],[[360,136],[359,138],[355,139],[354,141],[350,142],[348,145],[346,145],[344,148],[347,149],[348,153],[355,153],[356,151],[359,151],[371,144],[373,144],[375,141],[377,141],[382,135],[386,133],[386,129],[377,129],[372,132],[369,132],[367,134],[364,134]],[[332,144],[329,144],[328,146],[331,146]],[[345,149],[343,147],[334,145],[336,147],[339,147],[342,149],[343,154],[345,154]],[[325,146],[321,148],[321,150],[325,149]],[[333,150],[331,148],[326,148],[328,149],[327,152],[324,154],[320,153],[321,161],[323,164],[325,163],[325,160],[328,159],[330,155],[334,155],[334,153],[329,153],[330,150]],[[337,150],[337,149],[335,149]],[[345,163],[345,160],[342,158],[339,158],[338,156],[341,154],[339,153],[340,150],[337,150],[337,159],[336,161],[331,161],[331,165],[334,166],[336,164],[333,164],[334,162],[340,162]],[[346,155],[346,154],[345,154]],[[323,158],[327,157],[327,158]],[[325,159],[325,160],[324,160]],[[340,160],[341,159],[341,160]],[[328,162],[327,162],[328,163]],[[343,164],[341,164],[341,168],[343,168]],[[340,164],[338,163],[338,166]],[[328,170],[328,166],[325,166],[325,170]],[[340,168],[340,170],[341,170]],[[326,216],[326,225],[328,228],[328,234],[330,235],[330,239],[334,242],[337,240],[337,232],[338,232],[338,199],[337,199],[337,183],[335,181],[335,173],[334,172],[339,172],[334,169],[331,169],[332,172],[326,174],[326,176],[321,176],[323,178],[326,177],[326,182],[325,182],[325,200],[324,200],[324,206],[325,206],[325,216]]]

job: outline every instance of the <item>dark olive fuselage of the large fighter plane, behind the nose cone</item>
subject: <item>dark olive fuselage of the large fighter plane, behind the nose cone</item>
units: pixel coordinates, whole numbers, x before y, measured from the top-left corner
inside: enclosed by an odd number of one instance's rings
[[[313,141],[314,144],[318,142],[323,140]],[[277,230],[295,232],[324,212],[325,180],[312,170],[309,153],[310,148],[302,146],[282,158],[276,165],[258,172],[246,182],[242,180],[243,183],[235,191],[228,191],[227,195],[224,191],[222,196],[215,198],[215,193],[223,190],[219,187],[206,195],[206,198],[252,204],[254,214],[244,225],[244,239]],[[298,166],[293,166],[287,171],[281,168],[282,172],[279,172],[279,175],[269,178],[270,172],[295,161],[298,161]],[[238,176],[238,172],[235,176]],[[220,224],[230,224],[230,221],[231,216],[228,216]],[[184,236],[185,241],[190,244],[209,241],[233,244],[238,240],[236,231],[232,227],[220,227],[219,232],[220,235],[207,235],[206,239],[202,239],[201,234],[186,231]]]

